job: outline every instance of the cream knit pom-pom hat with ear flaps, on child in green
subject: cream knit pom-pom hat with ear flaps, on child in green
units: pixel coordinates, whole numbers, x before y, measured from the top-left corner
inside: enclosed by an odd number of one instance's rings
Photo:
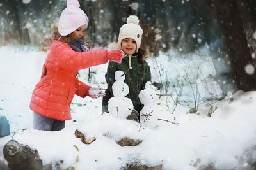
[[[135,15],[130,15],[127,18],[127,24],[124,24],[119,30],[118,45],[121,46],[123,39],[131,38],[136,41],[136,52],[138,52],[141,44],[143,30],[139,25],[139,18]]]

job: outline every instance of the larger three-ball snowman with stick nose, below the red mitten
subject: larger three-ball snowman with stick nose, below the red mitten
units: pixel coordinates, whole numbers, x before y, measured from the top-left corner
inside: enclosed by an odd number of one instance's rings
[[[114,97],[111,97],[108,101],[108,111],[117,118],[126,119],[133,110],[133,104],[131,99],[125,97],[129,94],[129,87],[124,83],[124,72],[116,71],[115,80],[112,85]]]

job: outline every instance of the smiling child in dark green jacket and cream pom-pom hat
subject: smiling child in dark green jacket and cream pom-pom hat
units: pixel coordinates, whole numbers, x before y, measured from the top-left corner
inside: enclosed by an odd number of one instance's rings
[[[124,82],[129,86],[129,94],[125,97],[131,99],[134,109],[140,113],[143,108],[138,97],[141,90],[145,89],[145,83],[151,81],[151,72],[148,63],[144,60],[146,52],[140,48],[143,30],[137,16],[131,15],[127,18],[119,31],[118,44],[112,43],[109,48],[120,49],[124,52],[121,64],[109,62],[108,71],[105,75],[108,89],[102,101],[102,113],[108,112],[108,101],[113,97],[112,85],[115,80],[115,72],[120,70],[125,73]],[[140,117],[138,115],[140,120]]]

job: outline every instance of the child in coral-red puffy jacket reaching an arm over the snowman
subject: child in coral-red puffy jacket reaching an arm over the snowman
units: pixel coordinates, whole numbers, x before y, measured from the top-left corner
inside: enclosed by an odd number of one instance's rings
[[[80,69],[104,64],[107,60],[120,63],[121,50],[92,50],[86,52],[83,46],[83,31],[88,17],[79,8],[77,0],[68,0],[58,25],[58,38],[52,42],[45,59],[41,80],[36,85],[30,108],[34,111],[34,129],[60,131],[65,120],[70,120],[70,103],[75,94],[81,97],[97,98],[99,89],[79,81],[76,73]]]

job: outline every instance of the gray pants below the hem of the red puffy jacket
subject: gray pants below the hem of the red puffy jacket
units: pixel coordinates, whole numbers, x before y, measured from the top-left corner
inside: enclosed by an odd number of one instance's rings
[[[34,112],[34,129],[43,131],[60,131],[65,127],[65,121],[44,117]]]

